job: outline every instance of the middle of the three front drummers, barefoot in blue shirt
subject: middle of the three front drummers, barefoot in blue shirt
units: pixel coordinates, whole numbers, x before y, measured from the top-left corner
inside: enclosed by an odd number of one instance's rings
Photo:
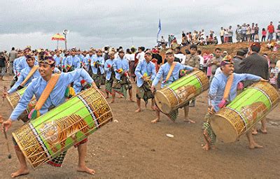
[[[167,59],[167,63],[163,64],[162,66],[160,66],[160,69],[157,73],[157,75],[155,76],[155,80],[153,80],[152,83],[152,87],[151,90],[154,92],[155,91],[155,86],[158,85],[158,82],[160,81],[160,78],[162,78],[162,85],[161,88],[165,87],[166,85],[170,85],[171,83],[173,83],[174,81],[179,79],[179,73],[181,70],[186,69],[188,71],[193,71],[195,68],[191,67],[191,66],[186,66],[183,64],[180,64],[178,62],[174,62],[174,52],[173,50],[167,50],[167,52],[165,52],[166,55],[166,59]],[[168,74],[171,74],[171,76]],[[184,110],[185,110],[185,118],[187,122],[191,122],[191,123],[195,123],[193,120],[190,120],[188,118],[188,106],[184,106]],[[176,115],[178,115],[178,113],[170,113],[167,116],[172,119],[175,120]],[[152,120],[152,123],[156,123],[160,121],[160,110],[156,110],[156,118],[155,120]]]

